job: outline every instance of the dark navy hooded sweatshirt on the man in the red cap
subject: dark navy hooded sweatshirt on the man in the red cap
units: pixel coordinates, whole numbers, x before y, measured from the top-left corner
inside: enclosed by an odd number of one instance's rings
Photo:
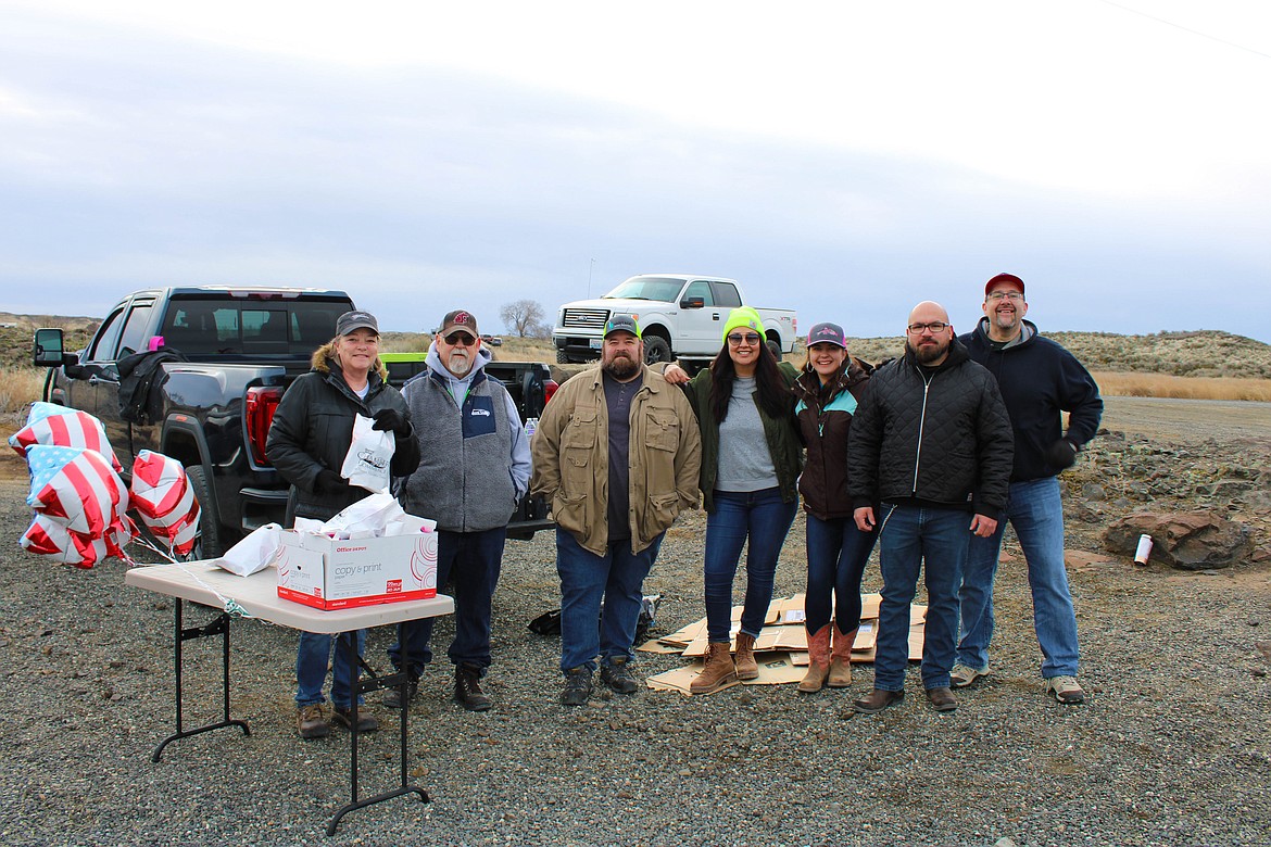
[[[1091,372],[1063,345],[1038,334],[1028,320],[1023,321],[1019,339],[1002,349],[993,349],[988,317],[961,339],[971,358],[998,378],[1010,414],[1016,434],[1010,481],[1027,483],[1064,470],[1050,460],[1055,442],[1063,437],[1082,447],[1099,430],[1103,400]],[[1063,411],[1069,413],[1068,432]]]

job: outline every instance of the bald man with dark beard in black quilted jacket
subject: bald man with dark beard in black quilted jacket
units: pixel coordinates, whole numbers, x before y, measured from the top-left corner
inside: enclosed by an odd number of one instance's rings
[[[905,356],[874,372],[848,442],[853,517],[863,532],[882,524],[874,690],[852,705],[857,711],[880,712],[905,697],[909,610],[921,571],[928,597],[923,688],[937,711],[957,709],[949,670],[962,568],[971,536],[989,537],[998,528],[1013,443],[998,382],[971,361],[948,312],[930,301],[914,306]]]

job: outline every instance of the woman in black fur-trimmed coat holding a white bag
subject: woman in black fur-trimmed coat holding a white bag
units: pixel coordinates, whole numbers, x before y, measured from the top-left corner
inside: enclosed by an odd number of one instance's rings
[[[285,480],[291,483],[287,526],[296,517],[325,521],[370,494],[352,486],[339,474],[353,441],[357,415],[375,419],[375,429],[390,430],[397,450],[390,470],[405,476],[419,466],[419,443],[411,427],[409,411],[398,390],[384,381],[386,371],[379,357],[379,325],[374,315],[350,311],[336,323],[336,338],[319,347],[313,370],[299,377],[273,415],[266,452]],[[343,634],[341,639],[350,637]],[[357,655],[366,646],[366,630],[356,632]],[[323,715],[323,683],[330,660],[332,636],[301,632],[296,653],[296,728],[301,738],[322,738],[330,731]],[[332,719],[352,724],[351,681],[357,668],[343,648],[332,663]],[[361,704],[361,700],[358,700]],[[379,721],[358,714],[357,729],[367,733]]]

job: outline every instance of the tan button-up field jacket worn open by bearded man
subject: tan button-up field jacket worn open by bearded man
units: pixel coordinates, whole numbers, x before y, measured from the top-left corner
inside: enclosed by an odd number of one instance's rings
[[[643,367],[628,441],[632,552],[698,505],[702,442],[684,394]],[[530,442],[530,493],[552,503],[557,526],[597,556],[609,545],[609,405],[599,367],[566,381]]]

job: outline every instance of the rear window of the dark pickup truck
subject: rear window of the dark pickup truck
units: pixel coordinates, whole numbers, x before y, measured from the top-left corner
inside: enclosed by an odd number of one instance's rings
[[[173,298],[164,315],[164,344],[187,356],[305,357],[336,335],[347,300]]]

